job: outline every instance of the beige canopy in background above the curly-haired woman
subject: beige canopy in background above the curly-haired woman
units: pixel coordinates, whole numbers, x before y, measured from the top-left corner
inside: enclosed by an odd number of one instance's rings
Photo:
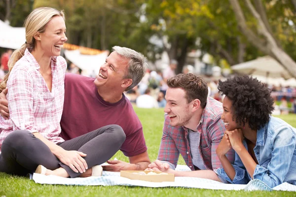
[[[271,78],[292,78],[290,73],[280,63],[269,56],[231,66],[231,69],[241,74],[260,75]]]

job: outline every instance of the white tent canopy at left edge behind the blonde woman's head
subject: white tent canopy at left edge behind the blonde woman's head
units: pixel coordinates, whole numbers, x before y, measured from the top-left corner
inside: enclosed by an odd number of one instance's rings
[[[17,49],[26,41],[25,28],[14,28],[0,20],[0,47]]]

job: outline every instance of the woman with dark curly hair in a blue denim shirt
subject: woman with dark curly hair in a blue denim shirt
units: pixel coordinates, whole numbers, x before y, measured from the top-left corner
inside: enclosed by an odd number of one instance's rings
[[[220,80],[218,89],[225,95],[221,118],[226,131],[216,150],[223,168],[215,172],[233,184],[259,179],[270,188],[296,185],[296,129],[271,116],[270,90],[247,75]],[[231,148],[233,165],[225,156]]]

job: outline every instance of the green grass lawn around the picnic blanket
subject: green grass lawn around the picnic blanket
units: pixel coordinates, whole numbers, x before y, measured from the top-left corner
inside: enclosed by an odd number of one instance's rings
[[[135,108],[144,128],[148,153],[151,161],[157,157],[158,147],[162,135],[164,120],[163,109],[139,109]],[[279,116],[293,127],[296,127],[296,115],[290,114]],[[119,160],[128,162],[121,152],[114,156]],[[114,158],[113,157],[113,158]],[[183,159],[179,164],[185,164]],[[198,197],[295,197],[295,192],[245,192],[245,191],[222,191],[187,188],[144,188],[126,186],[62,186],[40,185],[28,177],[12,176],[0,173],[0,197],[80,197],[80,196],[122,196],[122,197],[151,197],[151,196],[198,196]]]

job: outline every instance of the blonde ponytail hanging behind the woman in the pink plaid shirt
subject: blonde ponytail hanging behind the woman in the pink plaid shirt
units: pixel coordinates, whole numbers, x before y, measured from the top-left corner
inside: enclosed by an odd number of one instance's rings
[[[5,75],[3,81],[0,83],[0,93],[6,88],[6,83],[7,83],[8,77],[9,77],[9,73],[10,73],[11,69],[13,68],[13,66],[15,65],[15,63],[17,61],[19,61],[19,59],[21,59],[24,56],[26,48],[27,48],[27,44],[25,43],[21,46],[21,48],[16,49],[12,53],[12,55],[8,61],[9,72]]]

